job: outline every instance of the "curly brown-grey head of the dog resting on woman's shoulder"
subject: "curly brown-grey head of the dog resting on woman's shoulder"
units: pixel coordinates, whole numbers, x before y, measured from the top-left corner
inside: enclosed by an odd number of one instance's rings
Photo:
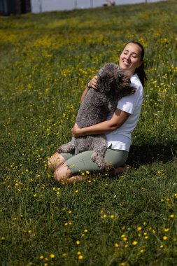
[[[118,64],[108,63],[100,69],[97,78],[97,88],[100,92],[108,93],[112,90],[115,94],[125,96],[135,92],[129,89],[129,85],[129,75],[125,74]]]

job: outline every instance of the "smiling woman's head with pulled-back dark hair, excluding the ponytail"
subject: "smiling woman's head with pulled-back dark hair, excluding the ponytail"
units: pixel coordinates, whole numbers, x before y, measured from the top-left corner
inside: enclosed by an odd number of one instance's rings
[[[128,43],[120,55],[120,68],[134,75],[135,69],[141,64],[141,47],[136,43]]]

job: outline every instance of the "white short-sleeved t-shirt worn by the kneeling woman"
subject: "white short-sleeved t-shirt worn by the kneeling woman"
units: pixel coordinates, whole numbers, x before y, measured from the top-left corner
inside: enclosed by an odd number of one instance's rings
[[[136,127],[141,113],[141,105],[143,102],[143,86],[137,74],[131,77],[131,86],[136,87],[136,92],[134,94],[122,97],[119,100],[117,108],[130,113],[129,118],[125,123],[113,132],[106,133],[107,148],[115,150],[129,151],[132,144],[132,132]],[[111,119],[113,113],[108,113],[106,120]]]

